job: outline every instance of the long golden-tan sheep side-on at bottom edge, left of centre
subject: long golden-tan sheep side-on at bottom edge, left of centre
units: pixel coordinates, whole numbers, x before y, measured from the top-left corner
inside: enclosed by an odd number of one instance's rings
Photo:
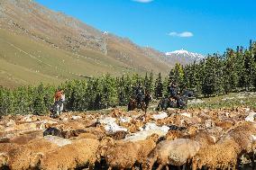
[[[98,147],[99,141],[96,139],[79,139],[72,144],[43,154],[40,168],[43,170],[65,170],[87,165],[93,167],[96,163]]]

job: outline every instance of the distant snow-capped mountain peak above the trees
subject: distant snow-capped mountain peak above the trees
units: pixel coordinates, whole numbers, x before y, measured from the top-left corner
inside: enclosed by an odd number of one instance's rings
[[[197,61],[200,61],[200,60],[206,58],[202,54],[189,52],[185,49],[175,50],[172,52],[166,52],[165,55],[169,60],[174,59],[179,63],[186,63],[186,64],[192,63],[194,61],[197,62]]]

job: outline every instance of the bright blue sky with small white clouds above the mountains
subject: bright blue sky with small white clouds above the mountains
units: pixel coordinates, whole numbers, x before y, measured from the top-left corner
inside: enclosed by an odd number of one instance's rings
[[[160,51],[220,52],[256,40],[255,0],[35,0]]]

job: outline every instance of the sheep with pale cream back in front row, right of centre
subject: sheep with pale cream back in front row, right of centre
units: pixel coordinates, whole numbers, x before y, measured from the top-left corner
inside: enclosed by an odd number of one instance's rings
[[[168,165],[182,166],[197,154],[199,148],[199,143],[192,139],[160,141],[152,150],[144,169],[151,169],[156,161],[160,165],[158,170]]]

